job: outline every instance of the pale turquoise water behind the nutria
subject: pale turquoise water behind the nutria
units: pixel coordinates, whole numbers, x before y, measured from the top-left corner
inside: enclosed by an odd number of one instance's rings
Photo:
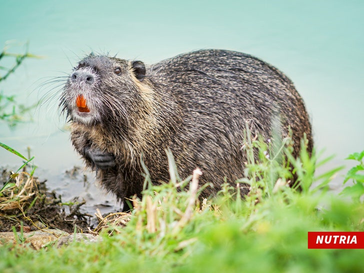
[[[256,55],[293,80],[312,119],[317,149],[336,154],[326,168],[349,165],[343,158],[364,148],[362,0],[0,2],[0,46],[12,40],[9,50],[22,52],[19,43],[29,41],[29,51],[44,56],[27,59],[1,83],[0,90],[18,94],[20,101],[44,95],[51,87],[39,84],[70,72],[91,50],[151,63],[224,48]],[[30,146],[42,178],[66,192],[74,185],[59,177],[81,161],[69,132],[61,129],[64,118],[56,105],[54,97],[35,111],[33,123],[13,131],[0,123],[0,142],[21,152]],[[3,164],[19,160],[0,150]]]

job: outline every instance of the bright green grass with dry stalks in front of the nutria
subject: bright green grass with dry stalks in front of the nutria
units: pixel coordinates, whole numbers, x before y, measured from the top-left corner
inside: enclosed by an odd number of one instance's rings
[[[246,137],[245,175],[251,191],[222,185],[216,198],[198,201],[198,173],[176,174],[168,153],[171,181],[145,190],[125,227],[110,225],[101,241],[72,242],[33,250],[29,245],[0,246],[0,272],[361,272],[362,249],[307,249],[307,231],[364,231],[364,151],[349,155],[357,165],[343,179],[353,184],[342,194],[327,191],[335,168],[313,175],[316,155],[290,154],[289,138],[277,148]],[[256,154],[254,160],[253,154]],[[288,187],[289,166],[301,192]],[[310,185],[316,182],[318,186]],[[190,183],[189,190],[179,190]],[[359,186],[357,186],[359,185]],[[205,185],[207,186],[207,185]]]

